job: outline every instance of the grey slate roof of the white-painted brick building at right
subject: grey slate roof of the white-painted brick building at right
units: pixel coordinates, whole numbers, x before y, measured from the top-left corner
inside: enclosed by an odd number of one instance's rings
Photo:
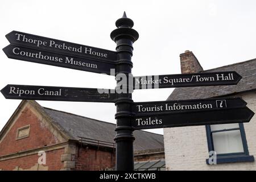
[[[236,71],[242,76],[237,85],[198,86],[189,88],[176,88],[167,100],[187,100],[228,96],[240,92],[256,89],[256,59],[230,64],[224,67],[209,69],[203,72]]]

